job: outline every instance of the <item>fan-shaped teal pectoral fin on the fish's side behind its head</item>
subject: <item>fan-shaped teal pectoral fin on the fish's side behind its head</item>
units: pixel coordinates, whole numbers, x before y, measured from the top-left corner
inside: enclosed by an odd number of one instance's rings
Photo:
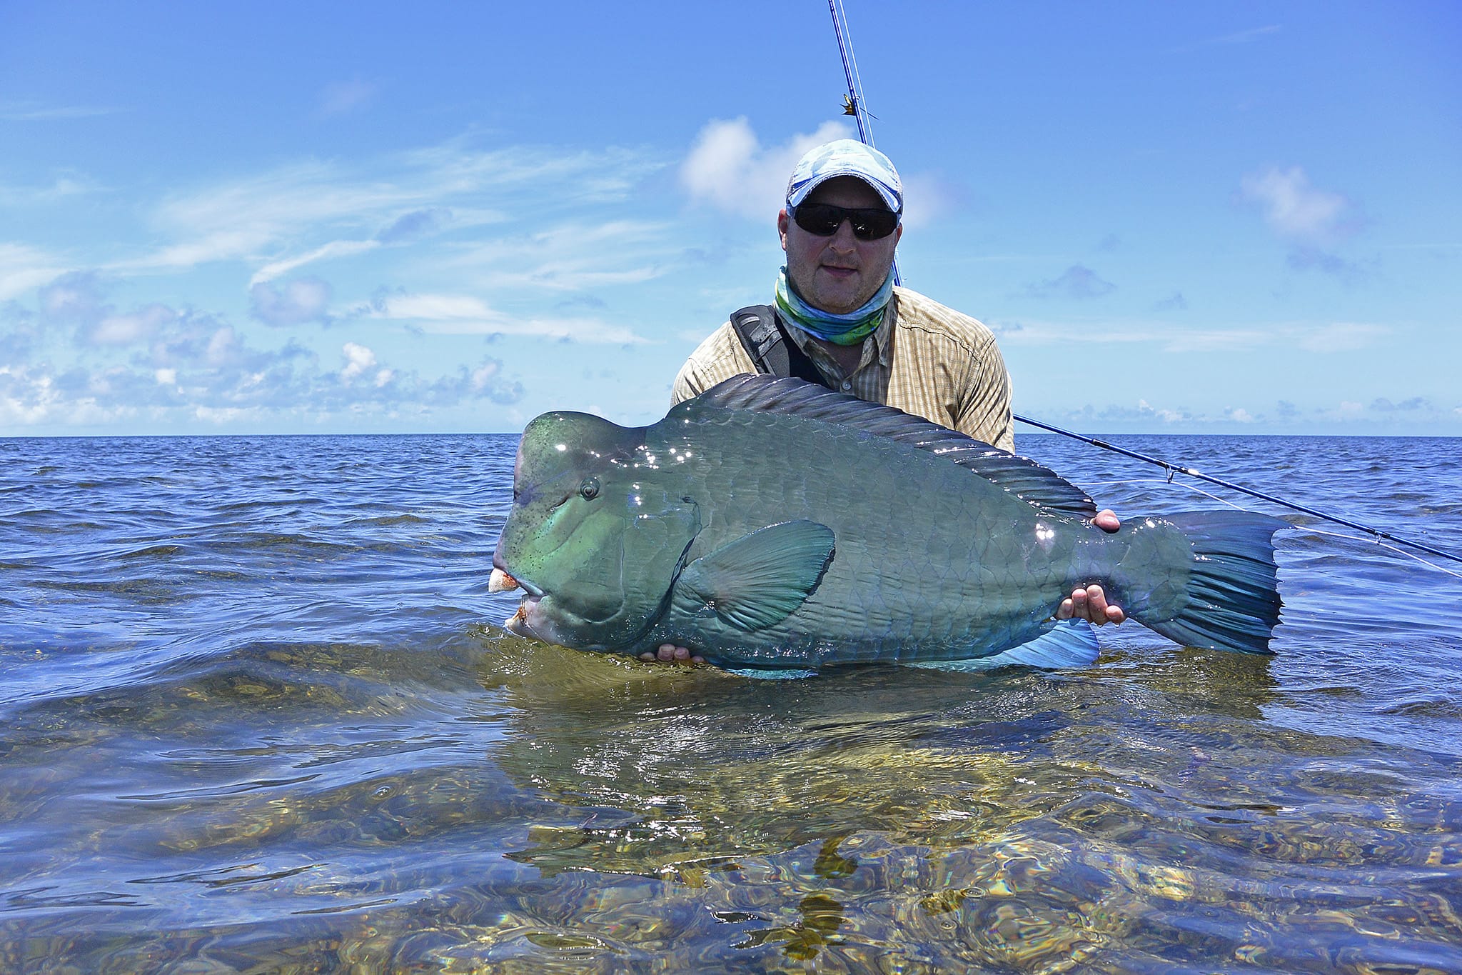
[[[835,535],[819,522],[759,528],[703,555],[680,573],[675,608],[715,612],[738,630],[781,623],[817,589],[833,555]]]

